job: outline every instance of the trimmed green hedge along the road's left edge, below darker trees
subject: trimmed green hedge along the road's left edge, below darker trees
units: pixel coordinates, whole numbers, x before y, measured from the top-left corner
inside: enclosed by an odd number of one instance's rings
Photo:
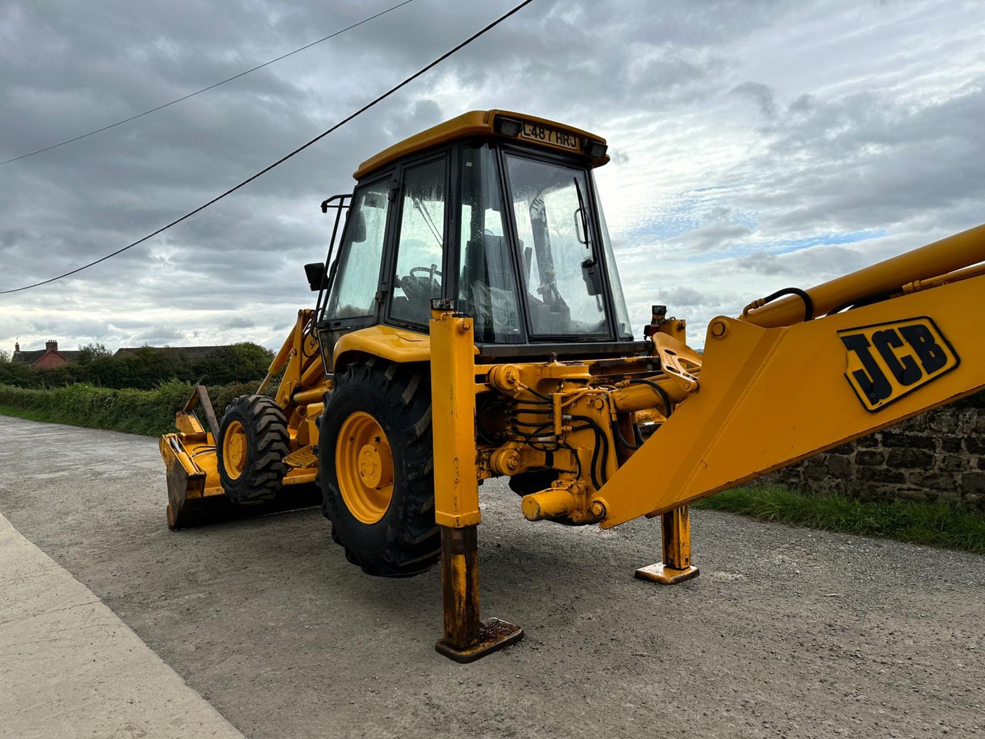
[[[216,416],[222,418],[234,397],[255,392],[258,384],[233,382],[210,387]],[[178,380],[153,390],[112,390],[85,384],[37,390],[0,385],[0,413],[157,437],[174,431],[174,414],[194,389],[194,385]]]

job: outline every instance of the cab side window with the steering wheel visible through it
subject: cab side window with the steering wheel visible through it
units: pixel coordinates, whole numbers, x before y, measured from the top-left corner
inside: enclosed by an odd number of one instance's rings
[[[390,317],[427,325],[430,299],[441,297],[446,160],[404,170],[403,207]]]

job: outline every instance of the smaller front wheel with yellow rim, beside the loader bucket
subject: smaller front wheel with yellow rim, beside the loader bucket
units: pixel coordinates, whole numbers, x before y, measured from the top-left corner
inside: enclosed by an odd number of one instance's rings
[[[216,442],[219,479],[226,497],[237,505],[273,501],[280,493],[288,465],[288,420],[281,407],[265,395],[233,399],[219,425]]]

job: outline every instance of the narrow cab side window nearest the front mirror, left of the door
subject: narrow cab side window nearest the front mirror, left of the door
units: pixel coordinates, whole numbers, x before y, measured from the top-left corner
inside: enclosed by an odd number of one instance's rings
[[[362,318],[376,311],[389,194],[387,179],[356,191],[336,262],[332,297],[325,309],[328,319]]]

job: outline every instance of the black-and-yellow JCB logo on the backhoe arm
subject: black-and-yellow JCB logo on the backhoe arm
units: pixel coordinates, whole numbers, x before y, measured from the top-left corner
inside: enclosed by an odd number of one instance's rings
[[[960,364],[941,329],[927,317],[838,331],[848,350],[845,377],[867,411],[882,410]]]

